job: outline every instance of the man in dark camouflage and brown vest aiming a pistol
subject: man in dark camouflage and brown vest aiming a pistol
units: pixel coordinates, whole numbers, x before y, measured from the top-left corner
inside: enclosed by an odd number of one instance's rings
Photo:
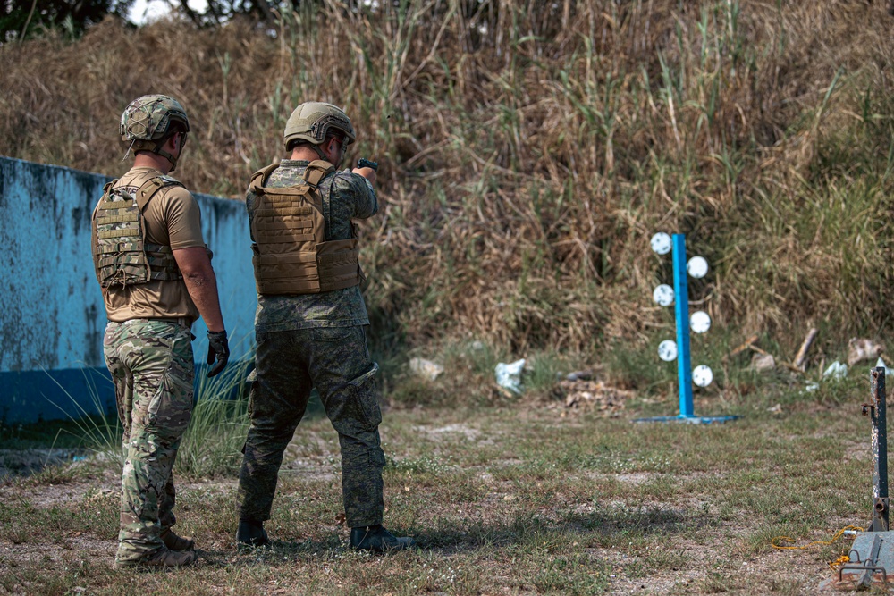
[[[313,387],[339,435],[351,547],[384,551],[414,544],[382,527],[378,365],[367,350],[369,319],[351,222],[378,209],[375,170],[336,172],[354,139],[338,107],[299,105],[285,129],[291,159],[257,172],[249,184],[257,381],[239,476],[238,544],[269,543],[263,523],[270,519],[283,451]]]

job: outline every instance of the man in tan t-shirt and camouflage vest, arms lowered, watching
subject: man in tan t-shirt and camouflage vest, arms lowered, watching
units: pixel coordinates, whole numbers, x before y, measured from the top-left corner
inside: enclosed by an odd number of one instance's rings
[[[171,469],[192,412],[190,327],[208,327],[208,376],[229,357],[217,281],[198,204],[168,176],[190,122],[173,98],[135,99],[120,133],[134,163],[93,212],[93,258],[108,325],[103,349],[115,385],[125,455],[115,567],[178,567],[196,559],[175,519]]]

